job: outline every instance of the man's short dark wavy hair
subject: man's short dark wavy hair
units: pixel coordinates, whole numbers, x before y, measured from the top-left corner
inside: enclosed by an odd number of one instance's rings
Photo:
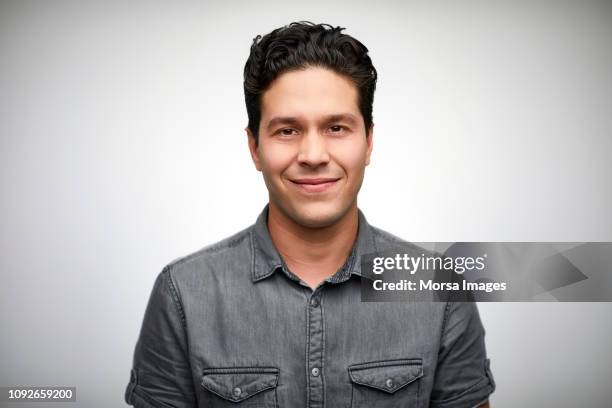
[[[343,27],[293,22],[253,39],[244,66],[244,100],[248,127],[259,141],[261,95],[282,73],[320,66],[349,78],[357,87],[358,106],[365,122],[366,135],[372,125],[372,104],[376,90],[376,69],[361,42]]]

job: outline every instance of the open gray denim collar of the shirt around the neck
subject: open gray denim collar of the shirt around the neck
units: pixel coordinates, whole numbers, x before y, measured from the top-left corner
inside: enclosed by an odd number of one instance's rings
[[[258,282],[271,276],[279,268],[285,268],[286,271],[285,263],[276,250],[268,231],[268,209],[269,204],[266,204],[250,231],[252,249],[251,278],[253,282]],[[362,276],[362,255],[378,252],[376,242],[374,241],[373,227],[367,222],[363,212],[359,209],[357,211],[359,217],[357,239],[344,265],[333,276],[326,279],[331,283],[344,282],[351,275]]]

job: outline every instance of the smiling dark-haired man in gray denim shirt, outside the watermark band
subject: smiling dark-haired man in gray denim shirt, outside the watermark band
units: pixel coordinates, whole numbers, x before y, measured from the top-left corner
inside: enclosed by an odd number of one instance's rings
[[[129,404],[488,406],[475,303],[361,302],[361,256],[400,241],[357,207],[377,74],[342,30],[300,22],[255,38],[246,133],[269,203],[159,274]]]

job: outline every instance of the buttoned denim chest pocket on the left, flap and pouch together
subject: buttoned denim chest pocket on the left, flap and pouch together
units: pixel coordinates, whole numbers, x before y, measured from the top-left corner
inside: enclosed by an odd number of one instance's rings
[[[202,376],[204,407],[276,408],[278,368],[207,368]]]

